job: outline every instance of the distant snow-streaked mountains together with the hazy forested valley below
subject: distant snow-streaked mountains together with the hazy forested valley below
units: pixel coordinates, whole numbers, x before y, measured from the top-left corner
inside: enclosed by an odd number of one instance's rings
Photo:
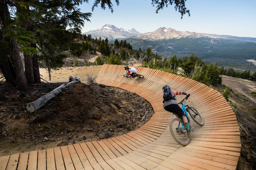
[[[142,34],[134,28],[126,31],[109,24],[83,34],[107,38],[109,43],[115,39],[126,40],[134,50],[151,47],[155,54],[167,57],[175,54],[177,58],[194,53],[207,64],[217,62],[219,67],[256,71],[256,65],[249,62],[256,60],[256,38],[182,32],[165,27]]]

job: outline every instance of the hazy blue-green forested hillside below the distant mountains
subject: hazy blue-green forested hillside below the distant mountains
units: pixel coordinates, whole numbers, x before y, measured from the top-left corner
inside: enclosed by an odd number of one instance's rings
[[[210,37],[179,38],[164,40],[126,39],[133,49],[139,50],[151,47],[154,53],[164,56],[182,58],[192,53],[202,59],[206,64],[218,63],[218,66],[235,68],[241,71],[246,69],[255,72],[256,65],[246,60],[256,60],[255,39],[216,39]]]

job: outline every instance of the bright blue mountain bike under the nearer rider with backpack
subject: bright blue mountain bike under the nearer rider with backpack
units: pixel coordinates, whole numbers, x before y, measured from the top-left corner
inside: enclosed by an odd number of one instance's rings
[[[184,100],[188,99],[189,96],[186,96],[182,101],[180,101],[178,104],[182,105],[182,110],[184,111],[188,123],[190,125],[190,119],[188,114],[191,116],[191,118],[197,123],[198,125],[202,126],[204,124],[203,118],[200,115],[200,113],[192,106],[188,106],[184,104]],[[188,113],[187,113],[188,112]],[[182,118],[174,117],[170,121],[170,131],[174,138],[174,140],[183,146],[186,146],[190,143],[190,133],[188,132],[187,128],[183,124]]]

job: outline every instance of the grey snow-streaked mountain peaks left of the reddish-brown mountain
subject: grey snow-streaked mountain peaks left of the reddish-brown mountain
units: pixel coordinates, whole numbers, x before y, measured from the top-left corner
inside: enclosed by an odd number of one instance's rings
[[[103,38],[103,39],[116,39],[116,38],[128,38],[135,35],[141,34],[140,32],[136,31],[134,28],[131,30],[124,30],[123,28],[117,28],[114,25],[106,24],[101,28],[96,30],[91,30],[88,32],[83,33],[85,35],[91,34],[92,38]]]

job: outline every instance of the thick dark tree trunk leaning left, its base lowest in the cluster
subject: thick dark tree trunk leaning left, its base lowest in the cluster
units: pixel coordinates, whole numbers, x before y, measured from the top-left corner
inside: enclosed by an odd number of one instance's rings
[[[10,59],[16,73],[18,88],[21,90],[28,89],[25,72],[19,55],[19,49],[14,39],[10,40]]]

